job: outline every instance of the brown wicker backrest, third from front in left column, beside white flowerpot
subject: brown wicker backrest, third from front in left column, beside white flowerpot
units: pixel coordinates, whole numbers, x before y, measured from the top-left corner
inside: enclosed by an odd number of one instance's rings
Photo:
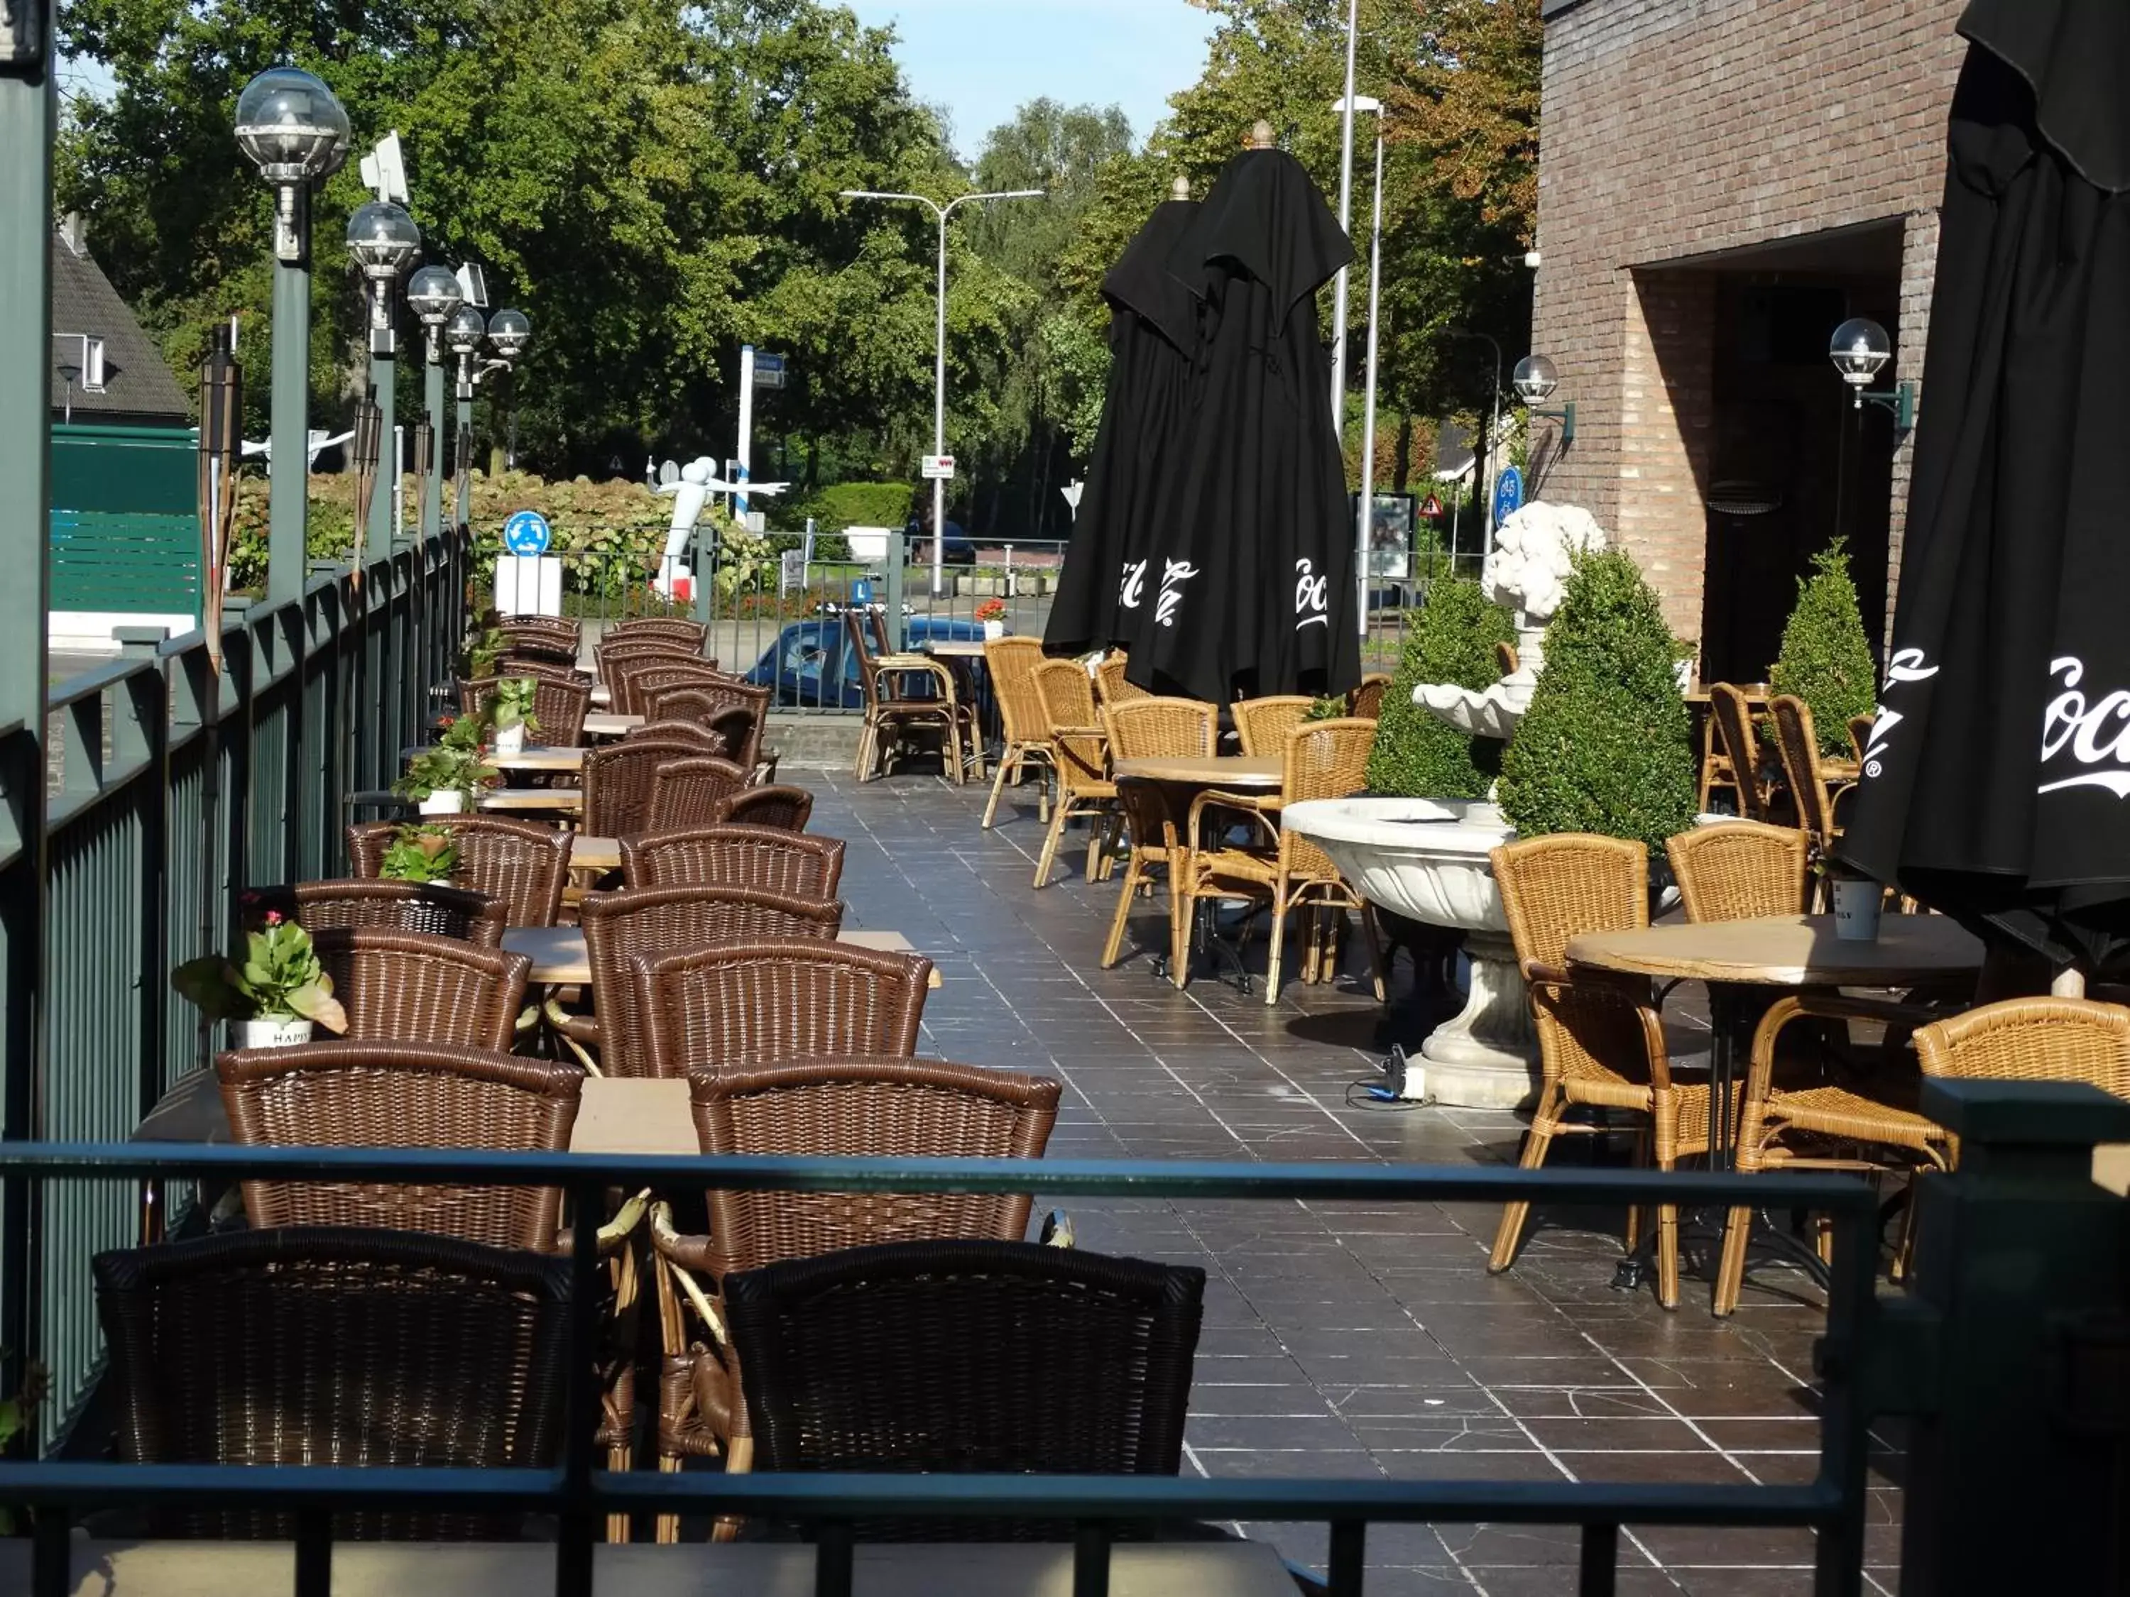
[[[509,1050],[532,960],[456,937],[328,926],[311,933],[345,1039]]]

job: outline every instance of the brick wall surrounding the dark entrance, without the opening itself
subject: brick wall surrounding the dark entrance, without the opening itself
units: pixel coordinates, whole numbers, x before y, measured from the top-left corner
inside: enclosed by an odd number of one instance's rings
[[[1561,373],[1555,402],[1576,400],[1576,443],[1540,458],[1540,483],[1617,528],[1685,637],[1700,630],[1713,298],[1681,264],[1904,217],[1898,375],[1919,377],[1962,6],[1546,6],[1531,349]]]

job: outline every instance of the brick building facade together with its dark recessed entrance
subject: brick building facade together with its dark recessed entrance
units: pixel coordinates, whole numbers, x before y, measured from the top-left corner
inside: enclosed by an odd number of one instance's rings
[[[1911,445],[1825,360],[1847,315],[1919,379],[1964,0],[1542,0],[1531,349],[1576,402],[1538,492],[1589,507],[1706,677],[1759,677],[1830,537],[1866,613]]]

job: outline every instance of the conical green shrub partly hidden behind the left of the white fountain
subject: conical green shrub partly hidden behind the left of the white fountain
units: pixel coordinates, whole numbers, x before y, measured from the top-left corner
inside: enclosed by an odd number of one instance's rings
[[[1485,798],[1502,743],[1436,720],[1412,703],[1412,688],[1423,681],[1487,688],[1502,675],[1493,645],[1514,641],[1514,618],[1489,603],[1476,581],[1436,577],[1427,583],[1427,603],[1410,618],[1406,652],[1382,694],[1367,786],[1399,798]]]

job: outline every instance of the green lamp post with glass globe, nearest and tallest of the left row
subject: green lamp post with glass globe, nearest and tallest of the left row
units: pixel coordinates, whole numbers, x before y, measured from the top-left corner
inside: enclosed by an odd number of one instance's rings
[[[311,183],[347,160],[347,111],[309,72],[275,66],[236,96],[236,145],[277,192],[266,598],[285,600],[302,594],[309,517]]]

